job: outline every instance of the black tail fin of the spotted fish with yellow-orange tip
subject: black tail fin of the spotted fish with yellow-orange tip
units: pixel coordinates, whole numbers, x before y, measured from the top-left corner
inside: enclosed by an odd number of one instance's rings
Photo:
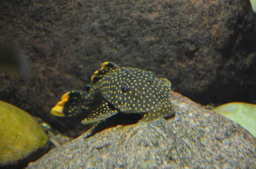
[[[89,109],[89,102],[85,100],[88,93],[83,91],[67,92],[61,96],[61,101],[52,108],[51,114],[55,116],[73,116]]]

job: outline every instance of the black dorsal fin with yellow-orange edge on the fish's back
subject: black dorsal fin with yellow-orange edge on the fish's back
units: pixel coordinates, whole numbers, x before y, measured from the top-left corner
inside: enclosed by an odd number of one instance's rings
[[[92,83],[93,84],[96,83],[100,78],[102,78],[106,74],[119,68],[120,66],[118,66],[116,63],[113,63],[113,62],[102,63],[102,67],[99,70],[95,71],[93,76],[91,77]]]

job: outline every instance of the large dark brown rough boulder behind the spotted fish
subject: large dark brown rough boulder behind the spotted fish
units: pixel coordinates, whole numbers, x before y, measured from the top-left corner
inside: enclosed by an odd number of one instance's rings
[[[249,0],[6,0],[0,32],[0,45],[25,50],[34,73],[1,76],[0,99],[52,125],[50,108],[104,61],[152,70],[200,103],[256,98]]]

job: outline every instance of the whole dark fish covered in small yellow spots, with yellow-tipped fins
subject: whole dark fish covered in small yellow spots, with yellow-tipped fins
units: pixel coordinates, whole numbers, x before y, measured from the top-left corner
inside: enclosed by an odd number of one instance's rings
[[[120,67],[105,62],[91,77],[85,91],[71,91],[61,97],[52,115],[73,116],[84,113],[82,123],[105,120],[117,113],[143,113],[141,121],[169,117],[175,113],[171,82],[157,78],[153,72]]]

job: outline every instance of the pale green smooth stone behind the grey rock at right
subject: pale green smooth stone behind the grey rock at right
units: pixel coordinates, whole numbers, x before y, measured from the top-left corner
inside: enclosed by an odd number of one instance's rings
[[[256,104],[232,102],[215,107],[213,111],[241,124],[256,137]]]

